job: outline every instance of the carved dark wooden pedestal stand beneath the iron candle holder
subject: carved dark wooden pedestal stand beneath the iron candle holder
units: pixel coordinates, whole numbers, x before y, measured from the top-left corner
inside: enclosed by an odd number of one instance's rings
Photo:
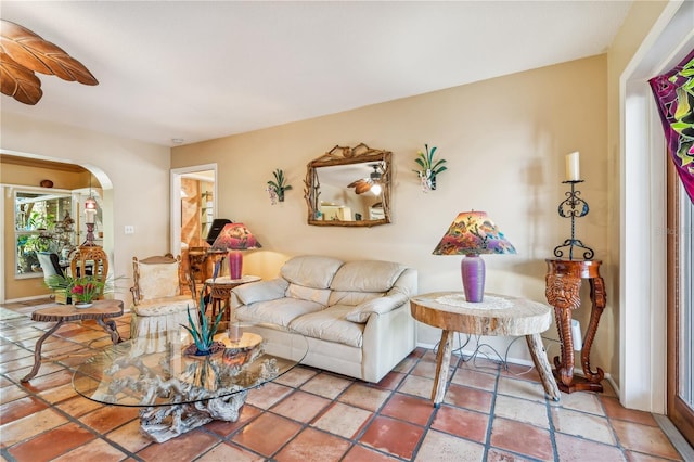
[[[562,392],[577,390],[602,392],[601,384],[605,376],[602,369],[597,372],[590,369],[590,349],[593,346],[597,323],[603,313],[606,301],[605,282],[600,275],[600,260],[562,260],[547,259],[547,288],[545,296],[550,305],[554,307],[556,328],[560,334],[562,347],[561,358],[554,357],[554,375]],[[574,376],[574,339],[571,336],[571,311],[581,306],[580,288],[581,280],[588,279],[590,283],[590,323],[583,347],[581,349],[581,365],[584,377]]]

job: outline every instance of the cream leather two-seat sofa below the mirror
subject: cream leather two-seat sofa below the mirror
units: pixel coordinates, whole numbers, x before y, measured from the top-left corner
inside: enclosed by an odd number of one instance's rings
[[[287,347],[282,329],[306,336],[301,363],[376,383],[415,347],[416,286],[416,271],[400,264],[305,255],[277,279],[235,287],[232,304],[237,321],[270,324],[268,344]]]

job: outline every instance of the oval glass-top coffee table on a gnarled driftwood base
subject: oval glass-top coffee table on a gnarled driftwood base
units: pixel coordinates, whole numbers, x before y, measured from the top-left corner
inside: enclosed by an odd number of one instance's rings
[[[284,332],[282,343],[268,343],[268,324],[220,324],[215,339],[224,348],[211,356],[184,354],[192,343],[181,330],[165,351],[141,354],[138,339],[104,348],[80,364],[75,390],[94,401],[140,407],[142,432],[164,442],[213,420],[235,422],[249,389],[273,381],[298,364],[306,338]],[[273,326],[274,329],[280,329]]]

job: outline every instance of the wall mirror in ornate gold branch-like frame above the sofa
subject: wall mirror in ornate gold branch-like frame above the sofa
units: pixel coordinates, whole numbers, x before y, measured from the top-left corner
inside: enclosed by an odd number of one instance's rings
[[[307,166],[308,223],[374,227],[390,222],[390,151],[336,145]]]

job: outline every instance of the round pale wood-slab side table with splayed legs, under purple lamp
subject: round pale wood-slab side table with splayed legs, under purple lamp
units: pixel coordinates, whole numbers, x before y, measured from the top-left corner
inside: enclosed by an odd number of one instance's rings
[[[462,292],[436,292],[410,299],[412,317],[441,329],[436,357],[432,400],[438,407],[446,395],[453,332],[473,335],[524,335],[547,395],[560,400],[560,390],[540,338],[552,323],[549,306],[507,295],[485,294],[480,303],[468,303]]]

